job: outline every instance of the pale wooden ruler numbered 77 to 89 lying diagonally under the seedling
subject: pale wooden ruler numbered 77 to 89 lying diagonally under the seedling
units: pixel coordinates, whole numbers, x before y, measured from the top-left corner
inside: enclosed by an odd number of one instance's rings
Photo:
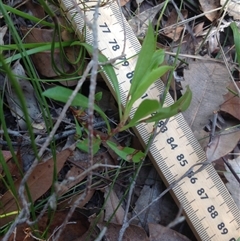
[[[83,8],[83,4],[79,0],[77,3]],[[84,20],[76,6],[73,7],[71,0],[61,0],[61,4],[69,21],[82,39]],[[84,4],[90,6],[90,4],[96,4],[96,1],[84,1]],[[94,9],[85,12],[89,21],[93,19],[93,14]],[[109,59],[121,55],[125,29],[126,58],[124,62],[114,66],[119,81],[122,104],[125,106],[131,85],[130,80],[136,66],[136,54],[139,53],[141,45],[127,21],[122,18],[115,1],[99,8],[97,25],[99,50]],[[92,32],[89,28],[86,28],[86,42],[93,43]],[[103,76],[110,90],[115,94],[108,76],[105,73]],[[157,81],[143,95],[142,99],[158,99],[163,87],[163,83],[160,80]],[[136,103],[134,110],[140,102],[141,100]],[[172,103],[172,98],[167,95],[165,104]],[[159,128],[163,124],[164,121],[159,121]],[[136,134],[146,146],[152,132],[152,125],[141,124],[136,129]],[[206,156],[182,114],[170,118],[161,132],[150,148],[150,155],[161,178],[169,186],[193,164],[205,161]],[[212,165],[208,165],[206,169],[192,178],[184,178],[173,188],[173,194],[175,201],[183,206],[186,219],[199,240],[236,241],[240,237],[239,209]]]

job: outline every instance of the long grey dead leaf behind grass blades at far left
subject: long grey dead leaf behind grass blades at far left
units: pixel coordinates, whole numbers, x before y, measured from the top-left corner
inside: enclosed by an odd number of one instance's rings
[[[39,119],[39,117],[41,117],[41,112],[38,108],[38,102],[35,98],[35,91],[31,83],[26,79],[27,76],[19,61],[16,61],[16,63],[13,65],[12,73],[15,75],[19,87],[23,92],[30,121],[38,122],[37,120]],[[18,95],[15,89],[12,87],[11,81],[9,79],[7,79],[7,86],[8,94],[6,95],[6,97],[10,106],[11,113],[16,118],[20,128],[22,130],[27,130],[25,117],[21,107],[21,101],[19,100]]]

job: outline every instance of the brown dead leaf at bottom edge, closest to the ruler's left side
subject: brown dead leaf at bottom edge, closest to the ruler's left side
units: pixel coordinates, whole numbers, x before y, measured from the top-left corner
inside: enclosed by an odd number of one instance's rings
[[[150,241],[190,241],[186,236],[160,224],[149,223]]]

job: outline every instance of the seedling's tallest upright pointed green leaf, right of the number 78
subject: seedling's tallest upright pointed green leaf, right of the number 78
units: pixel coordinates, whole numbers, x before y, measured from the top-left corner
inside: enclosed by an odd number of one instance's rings
[[[142,77],[147,72],[147,69],[149,68],[148,64],[151,62],[155,49],[156,49],[156,42],[154,38],[154,31],[153,31],[152,25],[149,24],[148,31],[143,41],[143,45],[140,50],[137,64],[134,70],[134,75],[131,82],[129,95],[133,95],[135,93],[135,90],[139,85]]]

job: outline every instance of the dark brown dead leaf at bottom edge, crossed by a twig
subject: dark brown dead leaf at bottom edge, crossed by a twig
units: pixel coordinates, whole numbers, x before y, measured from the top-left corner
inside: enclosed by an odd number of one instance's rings
[[[122,225],[115,224],[115,223],[99,223],[98,227],[102,229],[103,227],[107,226],[107,232],[105,234],[106,241],[116,241],[119,237],[119,231],[122,228]],[[145,230],[141,227],[136,225],[130,225],[126,232],[123,235],[122,241],[149,241],[149,238],[145,232]]]

